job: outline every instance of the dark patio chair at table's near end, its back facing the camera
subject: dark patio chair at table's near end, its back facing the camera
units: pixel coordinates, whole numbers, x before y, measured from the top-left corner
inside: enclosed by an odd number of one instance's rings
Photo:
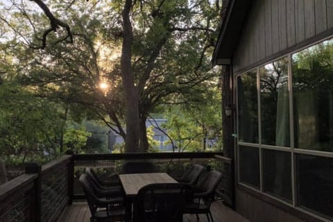
[[[181,222],[189,186],[155,183],[139,189],[133,205],[133,222]]]

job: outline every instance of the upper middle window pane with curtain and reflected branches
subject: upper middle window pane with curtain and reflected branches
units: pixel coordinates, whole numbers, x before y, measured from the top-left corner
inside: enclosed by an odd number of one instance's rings
[[[262,144],[290,146],[288,60],[259,68]]]

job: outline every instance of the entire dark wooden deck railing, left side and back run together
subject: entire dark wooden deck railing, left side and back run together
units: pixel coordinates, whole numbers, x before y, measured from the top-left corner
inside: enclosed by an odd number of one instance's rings
[[[189,164],[203,164],[223,172],[217,195],[234,205],[232,160],[223,153],[123,153],[87,154],[72,152],[44,166],[26,165],[26,173],[0,186],[0,222],[54,222],[73,199],[82,198],[78,184],[85,167],[94,167],[100,176],[121,173],[128,160],[154,162],[158,171],[180,176]]]

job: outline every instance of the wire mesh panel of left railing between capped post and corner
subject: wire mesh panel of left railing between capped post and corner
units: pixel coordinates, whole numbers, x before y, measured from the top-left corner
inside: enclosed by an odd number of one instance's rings
[[[67,166],[57,167],[42,175],[41,198],[42,221],[56,221],[69,200]]]

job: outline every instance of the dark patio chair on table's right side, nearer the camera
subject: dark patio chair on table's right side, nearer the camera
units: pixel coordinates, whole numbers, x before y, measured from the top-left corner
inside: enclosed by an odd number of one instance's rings
[[[193,189],[193,200],[185,205],[185,214],[206,214],[208,222],[214,222],[212,213],[210,212],[210,205],[214,200],[216,187],[222,179],[222,173],[219,171],[210,171],[206,174],[205,180],[202,180]]]

